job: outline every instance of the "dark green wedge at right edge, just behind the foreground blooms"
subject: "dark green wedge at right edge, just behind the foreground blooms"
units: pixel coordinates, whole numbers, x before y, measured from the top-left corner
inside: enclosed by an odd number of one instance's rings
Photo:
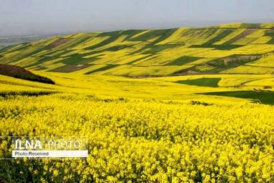
[[[218,95],[225,97],[236,97],[242,99],[253,99],[253,101],[260,101],[264,104],[274,105],[274,92],[273,91],[225,91],[225,92],[212,92],[212,93],[200,93],[203,95]]]

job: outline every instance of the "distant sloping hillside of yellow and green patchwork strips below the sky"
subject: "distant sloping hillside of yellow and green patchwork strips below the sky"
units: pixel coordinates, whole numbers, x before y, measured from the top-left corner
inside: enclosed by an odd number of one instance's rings
[[[57,36],[0,49],[35,71],[123,76],[274,73],[274,23]]]

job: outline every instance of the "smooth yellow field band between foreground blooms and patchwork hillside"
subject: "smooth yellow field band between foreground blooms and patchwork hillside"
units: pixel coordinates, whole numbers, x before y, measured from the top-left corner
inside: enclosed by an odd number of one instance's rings
[[[81,75],[34,71],[55,81],[55,85],[42,84],[0,75],[1,93],[47,91],[79,93],[99,97],[127,97],[134,99],[160,99],[210,103],[254,102],[255,98],[238,98],[203,95],[211,92],[258,90],[271,92],[273,75],[185,75],[172,77],[130,78],[110,75]],[[210,80],[216,80],[211,83]],[[199,82],[196,82],[199,81]],[[216,102],[218,101],[218,102]],[[272,97],[269,101],[274,102]]]

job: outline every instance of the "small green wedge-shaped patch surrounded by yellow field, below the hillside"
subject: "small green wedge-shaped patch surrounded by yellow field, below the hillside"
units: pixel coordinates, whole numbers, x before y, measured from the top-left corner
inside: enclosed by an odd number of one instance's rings
[[[180,80],[175,83],[178,84],[188,84],[193,86],[206,86],[206,87],[218,87],[218,83],[221,78],[200,78],[196,80]]]

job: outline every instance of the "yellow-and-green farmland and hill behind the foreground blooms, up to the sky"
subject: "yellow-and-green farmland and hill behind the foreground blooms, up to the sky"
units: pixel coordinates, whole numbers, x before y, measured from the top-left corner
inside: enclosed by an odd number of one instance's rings
[[[21,66],[56,84],[0,75],[4,94],[54,90],[274,104],[274,23],[55,36],[0,49],[0,64]]]

